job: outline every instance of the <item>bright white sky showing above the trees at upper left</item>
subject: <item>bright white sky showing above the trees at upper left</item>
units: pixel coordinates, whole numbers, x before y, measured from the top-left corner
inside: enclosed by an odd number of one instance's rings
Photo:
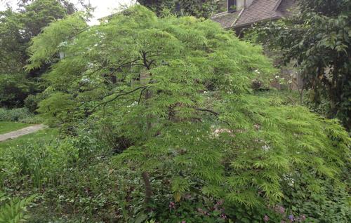
[[[15,8],[18,0],[0,0],[0,11],[5,9],[5,3],[8,2]],[[70,0],[72,3],[76,4],[77,0]],[[88,3],[89,0],[85,0]],[[90,3],[95,8],[93,13],[94,18],[91,22],[91,25],[95,25],[98,23],[98,18],[105,17],[107,15],[111,15],[112,13],[118,11],[120,6],[126,6],[133,4],[134,0],[90,0]]]

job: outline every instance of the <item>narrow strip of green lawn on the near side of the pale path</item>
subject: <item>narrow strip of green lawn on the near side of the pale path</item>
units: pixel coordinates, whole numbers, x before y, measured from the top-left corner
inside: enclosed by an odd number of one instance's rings
[[[47,128],[44,130],[39,130],[37,133],[23,135],[13,140],[0,142],[0,149],[6,149],[8,147],[13,147],[21,144],[31,144],[33,141],[37,140],[50,141],[54,140],[56,137],[58,137],[58,130],[55,128]]]

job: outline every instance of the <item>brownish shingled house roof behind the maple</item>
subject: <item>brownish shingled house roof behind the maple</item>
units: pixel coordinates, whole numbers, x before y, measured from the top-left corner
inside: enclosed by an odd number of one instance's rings
[[[254,0],[248,8],[234,13],[219,13],[211,19],[225,29],[239,28],[290,15],[289,8],[293,6],[296,6],[295,0]]]

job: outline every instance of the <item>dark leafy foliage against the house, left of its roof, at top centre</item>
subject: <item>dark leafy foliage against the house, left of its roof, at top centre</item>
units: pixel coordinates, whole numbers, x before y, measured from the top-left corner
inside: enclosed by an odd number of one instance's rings
[[[138,0],[138,3],[150,8],[160,15],[164,9],[168,9],[178,15],[192,15],[198,18],[210,18],[218,9],[217,2],[214,0]]]

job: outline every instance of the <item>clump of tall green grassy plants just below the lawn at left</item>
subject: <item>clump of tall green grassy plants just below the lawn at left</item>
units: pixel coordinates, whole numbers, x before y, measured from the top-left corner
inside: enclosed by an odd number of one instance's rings
[[[62,170],[77,162],[78,150],[68,140],[33,142],[10,147],[3,157],[2,178],[7,187],[40,188],[58,184]]]

